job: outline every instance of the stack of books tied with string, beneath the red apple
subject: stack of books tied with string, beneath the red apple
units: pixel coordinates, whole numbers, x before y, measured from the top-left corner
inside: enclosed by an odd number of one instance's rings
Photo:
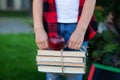
[[[36,61],[40,72],[84,74],[86,53],[80,51],[38,50]]]

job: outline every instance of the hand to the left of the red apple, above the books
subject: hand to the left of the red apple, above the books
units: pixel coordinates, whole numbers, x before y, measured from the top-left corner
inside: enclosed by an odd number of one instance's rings
[[[35,39],[39,49],[48,49],[48,36],[44,29],[36,31]]]

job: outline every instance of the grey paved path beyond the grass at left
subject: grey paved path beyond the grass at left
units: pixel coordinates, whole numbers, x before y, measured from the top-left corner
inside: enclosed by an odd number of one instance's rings
[[[23,18],[0,18],[0,33],[31,33],[30,25]]]

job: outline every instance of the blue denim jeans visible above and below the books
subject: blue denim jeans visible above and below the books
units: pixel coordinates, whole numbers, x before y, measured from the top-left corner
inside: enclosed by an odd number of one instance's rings
[[[65,41],[67,42],[76,28],[76,23],[58,23],[58,34],[63,36]],[[87,52],[88,41],[83,42],[82,46],[85,48],[81,48],[82,51]],[[72,50],[72,49],[65,49]],[[65,74],[66,80],[82,80],[82,74]],[[47,80],[61,80],[62,74],[58,73],[47,73]]]

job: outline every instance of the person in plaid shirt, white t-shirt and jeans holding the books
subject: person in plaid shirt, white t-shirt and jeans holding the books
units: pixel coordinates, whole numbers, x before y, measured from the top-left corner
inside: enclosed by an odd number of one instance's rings
[[[97,31],[93,16],[96,0],[33,0],[33,19],[36,44],[48,49],[48,38],[62,36],[68,50],[87,47]],[[87,51],[86,48],[82,49]],[[61,74],[47,73],[47,80],[61,80]],[[82,80],[82,74],[66,74],[67,80]]]

